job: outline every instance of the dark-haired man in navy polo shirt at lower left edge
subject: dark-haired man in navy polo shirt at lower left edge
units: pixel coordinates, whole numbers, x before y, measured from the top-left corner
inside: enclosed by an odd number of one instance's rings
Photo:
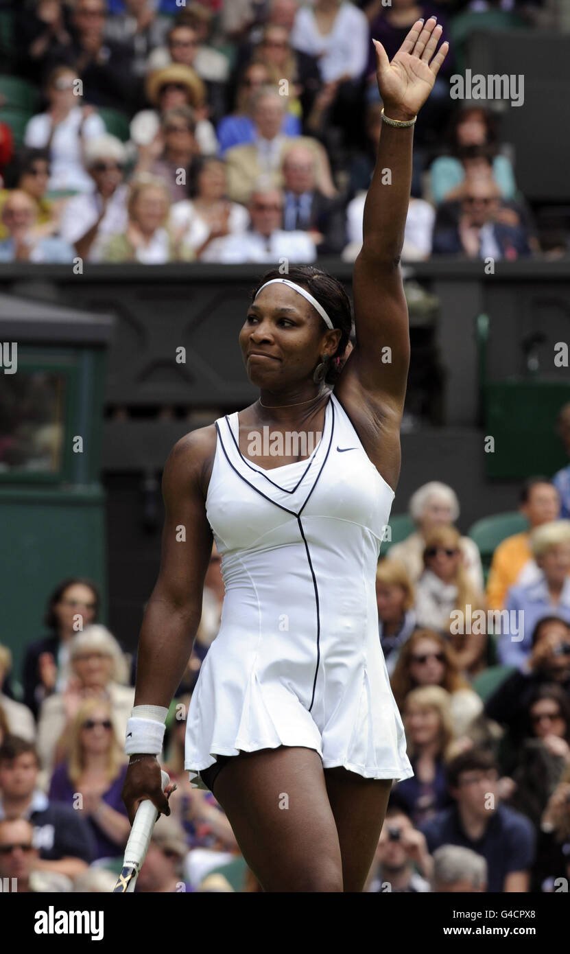
[[[0,746],[0,821],[27,819],[39,850],[34,867],[75,878],[91,863],[95,843],[81,814],[53,802],[38,784],[39,759],[32,742],[8,736]]]

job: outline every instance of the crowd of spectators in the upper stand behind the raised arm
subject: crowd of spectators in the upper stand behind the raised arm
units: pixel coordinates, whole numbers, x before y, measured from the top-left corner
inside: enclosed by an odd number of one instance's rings
[[[540,0],[13,6],[10,70],[39,99],[26,116],[0,76],[0,260],[356,259],[382,125],[371,39],[392,57],[432,14],[452,49],[417,120],[403,260],[567,250],[540,244],[498,114],[450,96],[470,31],[529,29]]]

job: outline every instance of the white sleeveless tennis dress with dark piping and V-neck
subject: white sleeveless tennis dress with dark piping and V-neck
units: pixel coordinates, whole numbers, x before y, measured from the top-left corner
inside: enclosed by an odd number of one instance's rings
[[[206,512],[222,555],[221,627],[188,712],[193,788],[216,755],[315,749],[324,768],[410,778],[378,637],[376,570],[394,491],[331,395],[304,461],[265,470],[215,422]]]

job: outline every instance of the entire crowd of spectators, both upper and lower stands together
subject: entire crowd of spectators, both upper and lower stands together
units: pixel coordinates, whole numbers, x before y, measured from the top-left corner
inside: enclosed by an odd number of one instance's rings
[[[15,152],[0,125],[0,261],[354,260],[381,135],[371,35],[392,56],[419,15],[464,39],[478,16],[523,29],[515,6],[22,0],[12,70],[43,106]],[[496,115],[449,97],[464,49],[417,122],[404,260],[546,251]],[[570,453],[570,404],[559,432]],[[567,890],[570,467],[528,481],[519,510],[527,528],[487,568],[456,527],[455,491],[430,482],[378,563],[378,638],[415,775],[393,786],[369,892]],[[141,893],[239,890],[228,819],[184,771],[219,564],[214,548],[167,720],[173,813]],[[62,580],[21,672],[0,646],[0,879],[18,891],[106,892],[120,870],[136,659],[100,603],[91,580]],[[241,889],[259,890],[251,873]]]

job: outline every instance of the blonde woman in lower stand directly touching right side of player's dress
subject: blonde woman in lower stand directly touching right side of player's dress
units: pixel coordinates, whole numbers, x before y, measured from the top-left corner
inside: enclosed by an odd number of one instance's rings
[[[377,569],[377,609],[380,645],[388,674],[394,672],[397,651],[416,629],[414,588],[403,564],[380,560]]]

